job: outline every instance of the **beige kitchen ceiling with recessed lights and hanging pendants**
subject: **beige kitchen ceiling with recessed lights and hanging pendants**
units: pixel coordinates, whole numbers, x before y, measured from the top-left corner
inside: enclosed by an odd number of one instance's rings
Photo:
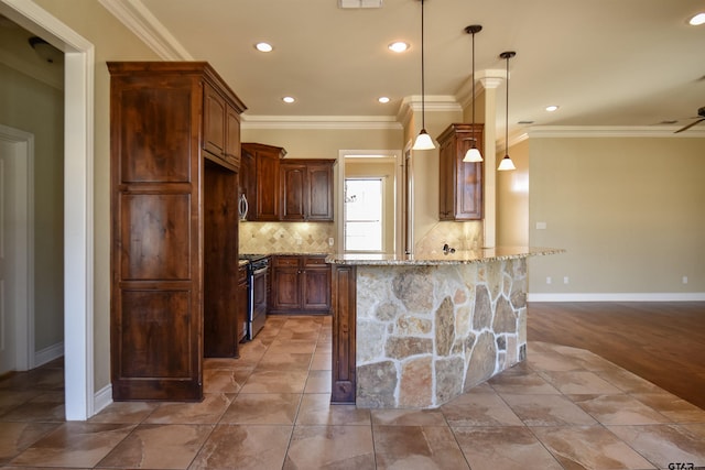
[[[248,110],[245,121],[397,121],[421,95],[421,1],[341,9],[338,0],[99,0],[166,59],[209,62]],[[703,0],[425,0],[426,111],[467,105],[476,70],[510,61],[510,133],[533,125],[685,125],[705,106]],[[137,28],[135,28],[137,26]],[[411,44],[403,54],[387,45]],[[268,54],[254,50],[267,41]],[[496,73],[496,72],[495,72]],[[497,127],[503,132],[505,84]],[[479,90],[479,86],[477,86]],[[291,95],[293,105],[281,98]],[[391,101],[380,105],[377,98]],[[465,97],[465,98],[464,98]],[[546,112],[549,105],[560,106]],[[705,123],[692,128],[699,133]]]

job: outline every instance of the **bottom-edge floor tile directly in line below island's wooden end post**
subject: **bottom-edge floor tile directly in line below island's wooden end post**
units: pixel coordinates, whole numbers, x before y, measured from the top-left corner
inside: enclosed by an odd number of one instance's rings
[[[296,426],[284,470],[375,469],[372,429],[368,426]]]

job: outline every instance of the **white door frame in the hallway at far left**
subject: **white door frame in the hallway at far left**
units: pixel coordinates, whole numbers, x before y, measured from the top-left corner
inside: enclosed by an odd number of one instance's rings
[[[34,134],[0,124],[0,140],[14,147],[14,166],[23,184],[15,195],[19,211],[24,221],[17,228],[19,243],[12,247],[18,256],[14,273],[22,277],[18,284],[18,308],[14,311],[14,365],[18,371],[28,371],[36,365],[34,351]],[[18,313],[22,313],[18,315]]]

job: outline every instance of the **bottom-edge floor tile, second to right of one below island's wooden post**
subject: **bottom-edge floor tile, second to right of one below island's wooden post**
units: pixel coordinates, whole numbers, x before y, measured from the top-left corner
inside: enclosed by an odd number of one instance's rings
[[[563,467],[523,426],[454,427],[473,470],[561,470]]]

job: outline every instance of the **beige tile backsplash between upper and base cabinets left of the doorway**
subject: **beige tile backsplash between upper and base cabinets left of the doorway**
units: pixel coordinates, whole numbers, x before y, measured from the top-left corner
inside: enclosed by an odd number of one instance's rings
[[[240,222],[240,253],[335,253],[333,222]]]

